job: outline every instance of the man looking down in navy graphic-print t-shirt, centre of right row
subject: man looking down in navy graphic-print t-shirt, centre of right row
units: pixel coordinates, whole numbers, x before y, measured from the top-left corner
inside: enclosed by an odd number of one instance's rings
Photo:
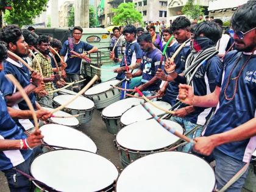
[[[159,68],[162,52],[155,48],[152,43],[151,35],[147,32],[138,37],[138,43],[143,50],[143,60],[140,68],[136,73],[127,73],[126,77],[132,79],[133,77],[142,76],[141,85],[138,87],[143,91],[145,96],[152,96],[161,84],[161,80],[155,77],[155,72]]]

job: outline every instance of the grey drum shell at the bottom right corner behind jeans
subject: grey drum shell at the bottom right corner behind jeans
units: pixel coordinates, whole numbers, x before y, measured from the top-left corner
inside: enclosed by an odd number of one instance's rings
[[[246,190],[256,192],[256,157],[252,156],[252,162],[249,165],[248,174],[244,182]]]

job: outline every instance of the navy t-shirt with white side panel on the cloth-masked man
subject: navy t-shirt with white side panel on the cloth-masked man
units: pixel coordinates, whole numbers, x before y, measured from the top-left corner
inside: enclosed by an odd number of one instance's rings
[[[193,77],[193,91],[194,95],[204,96],[212,93],[216,87],[216,78],[223,69],[221,59],[217,55],[202,65]],[[181,105],[184,107],[184,105]],[[185,118],[191,123],[204,125],[212,113],[212,108],[194,107],[195,111],[188,114]]]

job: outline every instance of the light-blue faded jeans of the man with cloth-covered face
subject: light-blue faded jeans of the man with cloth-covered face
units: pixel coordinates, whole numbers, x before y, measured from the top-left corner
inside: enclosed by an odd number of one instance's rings
[[[196,123],[191,123],[188,121],[186,118],[180,118],[177,116],[172,116],[171,121],[174,121],[176,123],[179,123],[182,127],[185,129],[185,133],[189,132],[190,130],[194,129],[194,127],[197,127],[197,130],[195,132],[191,132],[190,134],[187,135],[187,137],[194,139],[196,137],[200,137],[202,133],[203,126],[198,125]],[[183,152],[190,152],[192,150],[192,144],[187,143],[183,146],[182,151]]]

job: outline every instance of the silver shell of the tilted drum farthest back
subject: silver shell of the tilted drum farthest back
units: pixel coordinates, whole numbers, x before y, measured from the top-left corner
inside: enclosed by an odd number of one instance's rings
[[[113,102],[119,101],[121,97],[121,91],[119,91],[117,88],[110,88],[110,90],[98,94],[85,94],[85,97],[91,99],[91,101],[94,102],[96,108],[99,109],[105,108]]]

